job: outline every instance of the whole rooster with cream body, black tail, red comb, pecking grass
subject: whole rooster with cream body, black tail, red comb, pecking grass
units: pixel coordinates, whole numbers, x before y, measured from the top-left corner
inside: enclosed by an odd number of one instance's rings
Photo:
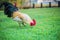
[[[4,13],[17,21],[20,26],[29,24],[30,26],[36,25],[36,21],[31,19],[27,14],[19,12],[18,8],[9,2],[1,3],[0,7],[4,5]]]

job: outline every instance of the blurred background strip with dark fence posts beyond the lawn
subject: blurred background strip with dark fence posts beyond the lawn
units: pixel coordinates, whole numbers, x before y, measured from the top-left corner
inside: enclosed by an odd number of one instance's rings
[[[60,7],[60,0],[0,0],[11,2],[18,8]]]

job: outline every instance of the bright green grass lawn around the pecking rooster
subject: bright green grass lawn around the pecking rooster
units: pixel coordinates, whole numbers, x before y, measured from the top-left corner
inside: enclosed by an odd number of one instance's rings
[[[60,8],[21,9],[36,19],[36,26],[20,28],[0,11],[0,40],[60,40]]]

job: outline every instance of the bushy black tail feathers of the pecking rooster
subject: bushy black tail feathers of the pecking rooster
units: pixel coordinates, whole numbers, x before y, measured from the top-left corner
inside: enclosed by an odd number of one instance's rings
[[[18,11],[18,8],[9,2],[1,3],[0,7],[2,7],[3,5],[4,5],[4,14],[6,14],[8,17],[11,17],[13,12]]]

